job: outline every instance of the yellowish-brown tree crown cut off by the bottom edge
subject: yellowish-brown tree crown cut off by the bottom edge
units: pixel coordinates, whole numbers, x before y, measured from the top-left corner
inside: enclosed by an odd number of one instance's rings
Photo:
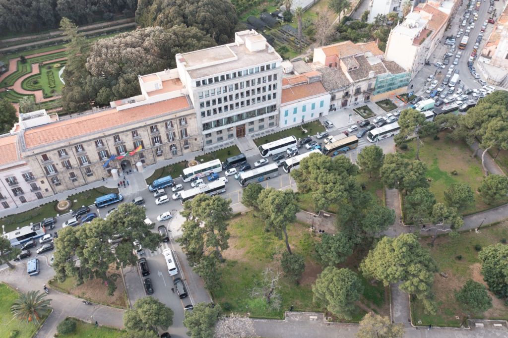
[[[392,323],[389,317],[369,312],[360,321],[356,336],[357,338],[402,338],[404,325]]]

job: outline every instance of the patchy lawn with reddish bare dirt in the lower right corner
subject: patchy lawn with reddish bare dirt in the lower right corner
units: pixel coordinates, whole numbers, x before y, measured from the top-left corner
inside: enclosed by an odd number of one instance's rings
[[[484,283],[481,274],[481,264],[478,252],[474,246],[479,244],[485,248],[508,238],[508,224],[506,222],[480,229],[480,233],[462,232],[457,239],[450,239],[448,235],[440,236],[434,247],[428,246],[430,239],[421,240],[423,246],[429,248],[436,260],[439,271],[447,274],[443,278],[439,274],[434,278],[434,293],[438,311],[436,315],[427,315],[419,301],[411,303],[413,321],[419,320],[421,325],[460,326],[468,312],[455,299],[455,291],[459,290],[468,279]],[[459,260],[457,257],[462,256]],[[485,283],[484,283],[485,284]],[[493,307],[483,314],[471,314],[471,318],[508,319],[508,307],[504,302],[490,293]],[[458,316],[459,319],[456,319]]]

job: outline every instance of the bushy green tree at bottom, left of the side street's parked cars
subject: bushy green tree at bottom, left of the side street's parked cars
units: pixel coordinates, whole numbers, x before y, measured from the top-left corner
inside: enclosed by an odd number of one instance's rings
[[[139,298],[123,315],[123,324],[128,331],[156,332],[156,326],[173,325],[173,310],[151,296]]]

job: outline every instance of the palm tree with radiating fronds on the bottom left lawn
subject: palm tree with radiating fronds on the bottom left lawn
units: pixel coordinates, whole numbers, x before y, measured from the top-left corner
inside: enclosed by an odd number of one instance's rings
[[[39,291],[28,291],[22,293],[11,306],[11,313],[15,318],[26,320],[26,323],[34,322],[39,324],[39,320],[46,314],[49,314],[51,299],[46,299],[46,294]]]

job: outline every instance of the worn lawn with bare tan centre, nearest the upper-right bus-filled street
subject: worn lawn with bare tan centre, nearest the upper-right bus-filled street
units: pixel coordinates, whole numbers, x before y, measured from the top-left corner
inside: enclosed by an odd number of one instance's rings
[[[428,166],[427,177],[431,180],[430,191],[434,193],[438,202],[443,202],[443,191],[452,183],[467,183],[475,195],[474,205],[466,209],[464,214],[491,208],[492,206],[486,205],[477,192],[484,178],[480,158],[471,157],[472,152],[465,142],[449,140],[446,136],[447,132],[441,132],[439,140],[427,138],[424,140],[424,145],[420,147],[420,159]],[[407,151],[397,151],[405,158],[415,159],[416,141],[409,142],[408,146]],[[453,171],[457,171],[457,175],[453,175]]]

